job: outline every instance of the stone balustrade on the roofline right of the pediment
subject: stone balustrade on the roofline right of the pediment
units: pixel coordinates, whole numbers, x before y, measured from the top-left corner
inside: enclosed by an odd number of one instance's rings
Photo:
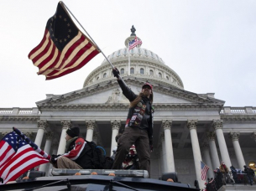
[[[224,106],[222,111],[220,111],[222,115],[256,115],[256,107],[253,106],[245,106],[245,107],[231,107]]]

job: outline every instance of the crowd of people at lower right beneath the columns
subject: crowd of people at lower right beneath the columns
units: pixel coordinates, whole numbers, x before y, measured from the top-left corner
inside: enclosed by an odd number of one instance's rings
[[[225,163],[221,163],[219,168],[213,170],[214,178],[208,178],[205,183],[204,191],[217,191],[223,185],[227,183],[243,183],[244,185],[256,184],[256,172],[252,168],[243,166],[243,170],[234,168],[233,166],[230,169],[227,168]]]

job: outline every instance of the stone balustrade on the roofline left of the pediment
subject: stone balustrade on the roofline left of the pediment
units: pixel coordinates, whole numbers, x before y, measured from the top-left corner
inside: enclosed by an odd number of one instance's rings
[[[23,116],[37,116],[40,114],[40,111],[37,107],[33,108],[0,108],[0,116],[8,116],[8,115],[23,115]]]

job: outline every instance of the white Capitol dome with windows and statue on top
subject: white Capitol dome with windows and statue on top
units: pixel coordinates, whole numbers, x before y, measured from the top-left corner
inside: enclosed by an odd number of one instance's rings
[[[158,54],[149,49],[141,48],[141,44],[138,44],[134,49],[128,49],[128,43],[136,37],[136,34],[134,34],[135,28],[132,29],[132,34],[124,41],[125,47],[107,56],[112,65],[118,68],[123,79],[137,78],[149,81],[153,85],[167,85],[184,90],[180,76],[174,70],[171,70],[169,66],[165,65],[165,62]],[[138,38],[138,40],[141,39]],[[128,57],[130,59],[130,66],[128,65]],[[87,76],[83,87],[97,85],[114,79],[112,66],[107,62],[107,59],[104,59],[102,65]]]

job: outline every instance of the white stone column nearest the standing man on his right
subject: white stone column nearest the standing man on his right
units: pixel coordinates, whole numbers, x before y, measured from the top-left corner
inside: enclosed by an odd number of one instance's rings
[[[165,133],[165,153],[166,153],[166,173],[173,173],[175,172],[175,158],[174,152],[172,147],[172,140],[170,136],[170,128],[172,125],[172,121],[162,121],[162,127]]]

